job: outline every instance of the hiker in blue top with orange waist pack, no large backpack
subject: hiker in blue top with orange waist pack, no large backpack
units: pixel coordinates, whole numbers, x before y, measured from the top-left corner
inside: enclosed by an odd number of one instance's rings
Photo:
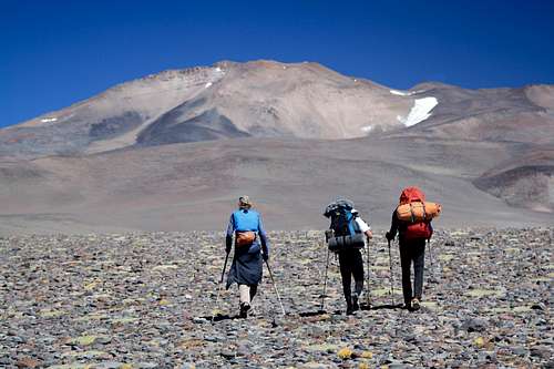
[[[226,288],[236,283],[239,291],[240,317],[246,318],[261,280],[263,259],[269,258],[269,242],[259,213],[252,209],[248,196],[238,198],[238,209],[230,215],[227,226],[226,252],[233,248],[235,256],[227,277]],[[263,254],[261,254],[263,252]]]

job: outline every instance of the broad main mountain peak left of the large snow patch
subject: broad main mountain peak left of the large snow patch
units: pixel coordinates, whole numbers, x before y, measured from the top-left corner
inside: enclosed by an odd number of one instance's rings
[[[121,84],[0,130],[0,154],[35,157],[141,145],[257,137],[349,139],[400,126],[411,99],[316,63],[220,62]],[[223,126],[212,126],[212,120]],[[184,127],[186,125],[186,127]],[[192,125],[191,127],[188,125]],[[193,131],[192,136],[188,131]],[[206,132],[203,132],[206,131]],[[240,133],[239,133],[240,132]]]

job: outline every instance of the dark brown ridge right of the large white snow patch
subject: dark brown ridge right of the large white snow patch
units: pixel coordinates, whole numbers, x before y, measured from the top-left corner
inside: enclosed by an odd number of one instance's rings
[[[432,115],[401,135],[425,135],[475,141],[554,142],[554,86],[465,90],[423,83],[410,94],[433,96]]]

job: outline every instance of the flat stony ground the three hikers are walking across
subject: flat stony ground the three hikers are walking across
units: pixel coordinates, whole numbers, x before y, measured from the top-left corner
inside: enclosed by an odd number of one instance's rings
[[[351,317],[335,258],[319,311],[321,233],[273,233],[287,315],[265,277],[246,320],[236,317],[236,287],[216,304],[223,234],[3,237],[0,367],[554,367],[553,232],[438,232],[418,312],[391,306],[379,234],[369,252],[373,307]],[[399,304],[396,246],[392,257]]]

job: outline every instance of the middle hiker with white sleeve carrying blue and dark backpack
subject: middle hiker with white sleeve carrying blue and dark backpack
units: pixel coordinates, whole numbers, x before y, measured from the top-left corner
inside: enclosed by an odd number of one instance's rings
[[[370,226],[359,216],[353,203],[337,198],[327,205],[324,215],[331,219],[326,238],[329,249],[339,256],[342,291],[347,303],[347,315],[360,309],[359,297],[363,289],[363,260],[360,249],[365,247],[365,237],[372,238]],[[351,291],[351,280],[355,291]]]

